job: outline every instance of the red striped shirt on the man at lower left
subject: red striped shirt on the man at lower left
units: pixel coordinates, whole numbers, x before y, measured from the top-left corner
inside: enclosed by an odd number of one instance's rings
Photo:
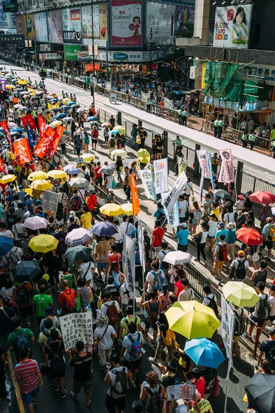
[[[39,365],[36,360],[20,361],[15,366],[14,377],[20,380],[23,393],[30,393],[39,384]]]

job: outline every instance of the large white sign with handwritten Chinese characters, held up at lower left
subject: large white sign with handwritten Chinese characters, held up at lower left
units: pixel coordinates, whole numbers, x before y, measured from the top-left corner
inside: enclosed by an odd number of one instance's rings
[[[65,350],[76,347],[77,341],[94,343],[91,313],[74,313],[59,317]]]

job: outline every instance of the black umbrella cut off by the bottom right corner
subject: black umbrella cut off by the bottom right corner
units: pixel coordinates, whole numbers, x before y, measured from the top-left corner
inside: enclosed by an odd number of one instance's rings
[[[245,386],[248,405],[259,413],[275,413],[275,376],[256,373]]]

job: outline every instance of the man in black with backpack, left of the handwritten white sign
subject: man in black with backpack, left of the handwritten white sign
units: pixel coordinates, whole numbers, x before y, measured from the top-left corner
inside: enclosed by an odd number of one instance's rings
[[[50,319],[46,319],[45,323],[48,320]],[[61,333],[57,328],[50,329],[50,342],[45,346],[44,366],[47,367],[47,375],[52,379],[52,383],[49,385],[50,389],[58,392],[57,380],[60,379],[61,397],[65,399],[67,394],[67,389],[65,388],[66,361],[63,356],[64,344],[60,341],[60,335]]]

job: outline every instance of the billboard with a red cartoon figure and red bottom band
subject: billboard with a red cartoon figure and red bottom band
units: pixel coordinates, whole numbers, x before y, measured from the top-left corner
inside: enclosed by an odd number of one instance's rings
[[[142,46],[142,0],[111,0],[111,46]]]

